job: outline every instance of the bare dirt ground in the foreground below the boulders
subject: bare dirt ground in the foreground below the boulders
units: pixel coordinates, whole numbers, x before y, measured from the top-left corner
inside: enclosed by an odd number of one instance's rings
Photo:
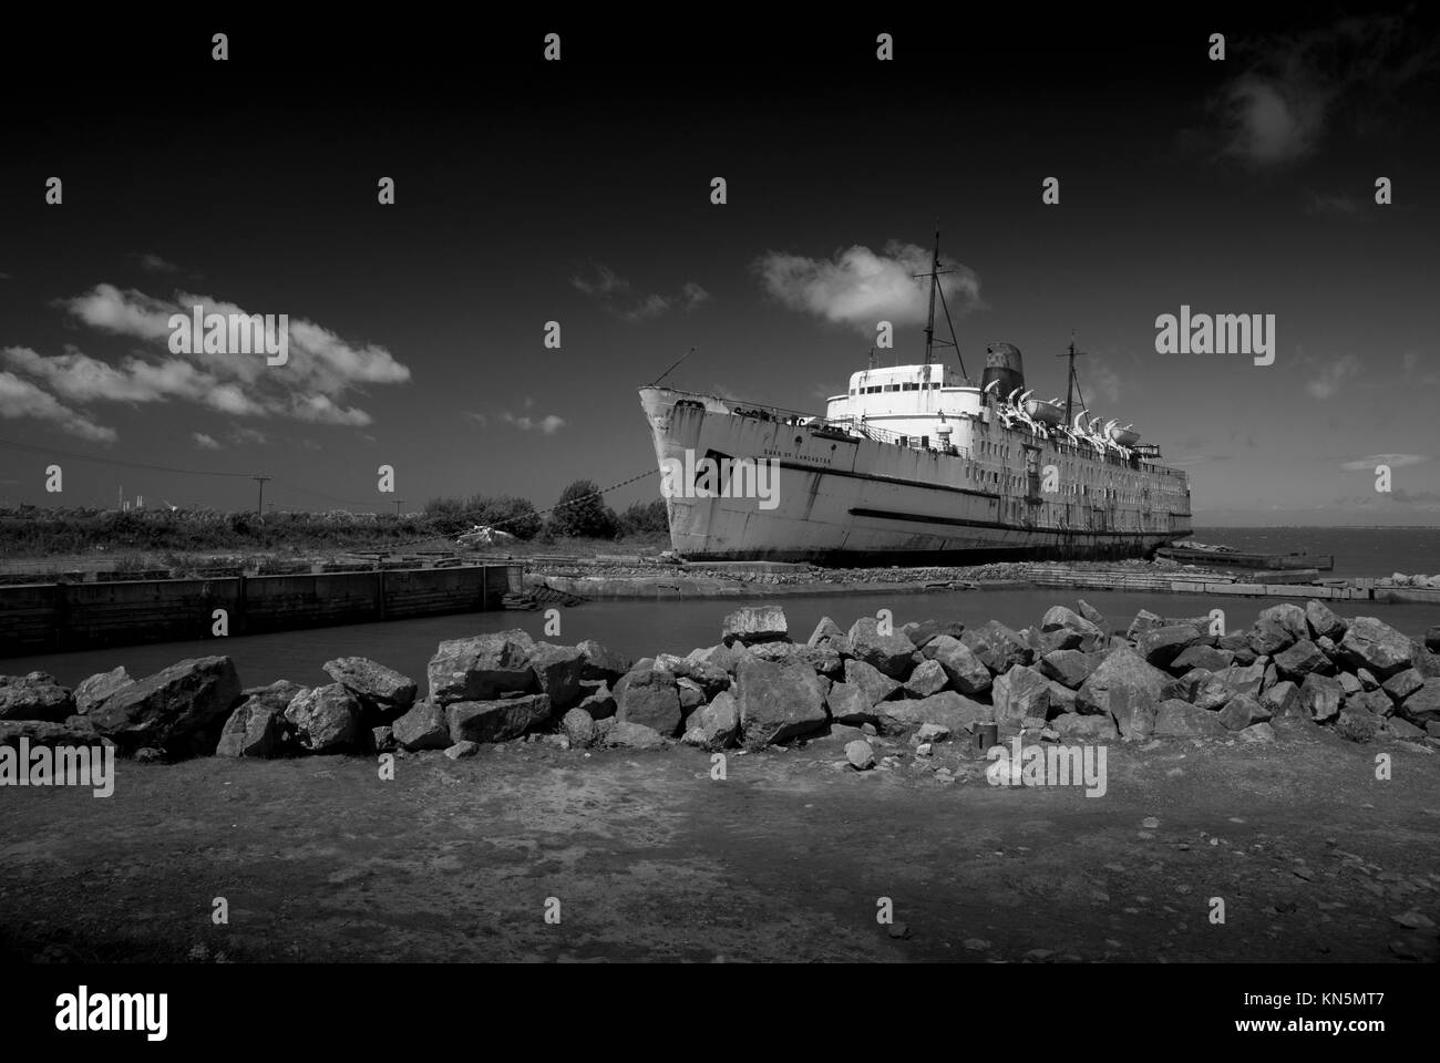
[[[687,748],[540,742],[393,781],[364,758],[120,762],[104,799],[0,789],[0,956],[1433,961],[1436,930],[1392,918],[1440,919],[1440,759],[1282,723],[1269,746],[1112,743],[1099,798],[991,786],[959,745],[920,768],[903,739],[857,773],[842,735],[732,752],[724,781]]]

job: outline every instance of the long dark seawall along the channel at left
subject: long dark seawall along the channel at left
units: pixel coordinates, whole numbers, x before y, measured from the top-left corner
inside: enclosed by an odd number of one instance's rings
[[[0,586],[0,657],[501,608],[521,566]]]

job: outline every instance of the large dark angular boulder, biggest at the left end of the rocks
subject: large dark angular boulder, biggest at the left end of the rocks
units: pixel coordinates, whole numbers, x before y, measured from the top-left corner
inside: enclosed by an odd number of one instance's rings
[[[229,657],[199,657],[111,694],[88,719],[125,753],[163,749],[171,759],[207,756],[240,696]]]

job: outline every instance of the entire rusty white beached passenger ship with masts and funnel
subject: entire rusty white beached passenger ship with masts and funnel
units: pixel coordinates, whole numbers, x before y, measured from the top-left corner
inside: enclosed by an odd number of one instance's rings
[[[674,549],[822,565],[1148,556],[1191,534],[1189,481],[1133,423],[1037,399],[994,343],[978,382],[935,357],[939,236],[919,364],[860,370],[824,416],[642,387]],[[946,311],[946,318],[949,313]],[[1079,402],[1077,402],[1079,393]],[[766,477],[773,477],[766,483]],[[762,490],[755,490],[756,487]]]

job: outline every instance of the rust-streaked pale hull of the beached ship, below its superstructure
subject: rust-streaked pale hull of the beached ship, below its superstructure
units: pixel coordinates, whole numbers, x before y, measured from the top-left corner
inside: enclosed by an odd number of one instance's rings
[[[985,490],[975,483],[978,462],[937,449],[845,438],[799,418],[737,413],[719,399],[660,387],[642,389],[641,402],[662,468],[687,459],[693,468],[697,455],[740,458],[766,462],[773,478],[765,498],[665,493],[671,544],[693,560],[1113,559],[1149,556],[1191,533],[1188,513],[1081,513],[1047,503],[1038,483],[1035,490]]]

